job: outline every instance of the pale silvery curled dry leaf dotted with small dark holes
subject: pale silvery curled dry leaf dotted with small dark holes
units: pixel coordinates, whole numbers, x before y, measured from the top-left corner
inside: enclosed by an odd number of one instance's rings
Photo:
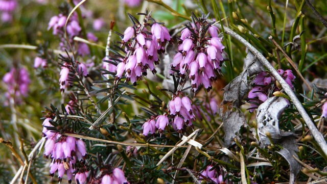
[[[256,121],[258,124],[258,136],[262,144],[271,144],[267,136],[269,134],[273,143],[280,142],[282,137],[294,135],[293,133],[282,132],[279,129],[278,119],[288,105],[288,101],[283,97],[270,97],[259,106]]]

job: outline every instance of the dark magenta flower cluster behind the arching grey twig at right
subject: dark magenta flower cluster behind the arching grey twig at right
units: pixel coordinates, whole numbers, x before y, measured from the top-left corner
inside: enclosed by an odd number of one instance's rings
[[[295,79],[295,76],[292,70],[277,70],[279,75],[281,75],[286,83],[292,88],[292,82]],[[271,73],[263,71],[260,72],[258,75],[255,76],[254,80],[254,87],[249,91],[248,94],[248,102],[250,103],[250,112],[253,112],[254,109],[259,107],[259,104],[263,103],[268,99],[268,97],[275,91],[279,91],[280,87],[276,85],[276,79],[272,76]]]

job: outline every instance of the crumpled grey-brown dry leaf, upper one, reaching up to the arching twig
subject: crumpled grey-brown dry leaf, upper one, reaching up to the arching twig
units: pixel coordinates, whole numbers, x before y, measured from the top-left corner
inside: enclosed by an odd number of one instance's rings
[[[243,97],[248,93],[250,85],[248,83],[248,76],[264,71],[264,66],[254,57],[252,52],[246,56],[244,61],[245,69],[239,76],[234,78],[223,90],[223,103],[232,102],[234,107],[240,107]]]

